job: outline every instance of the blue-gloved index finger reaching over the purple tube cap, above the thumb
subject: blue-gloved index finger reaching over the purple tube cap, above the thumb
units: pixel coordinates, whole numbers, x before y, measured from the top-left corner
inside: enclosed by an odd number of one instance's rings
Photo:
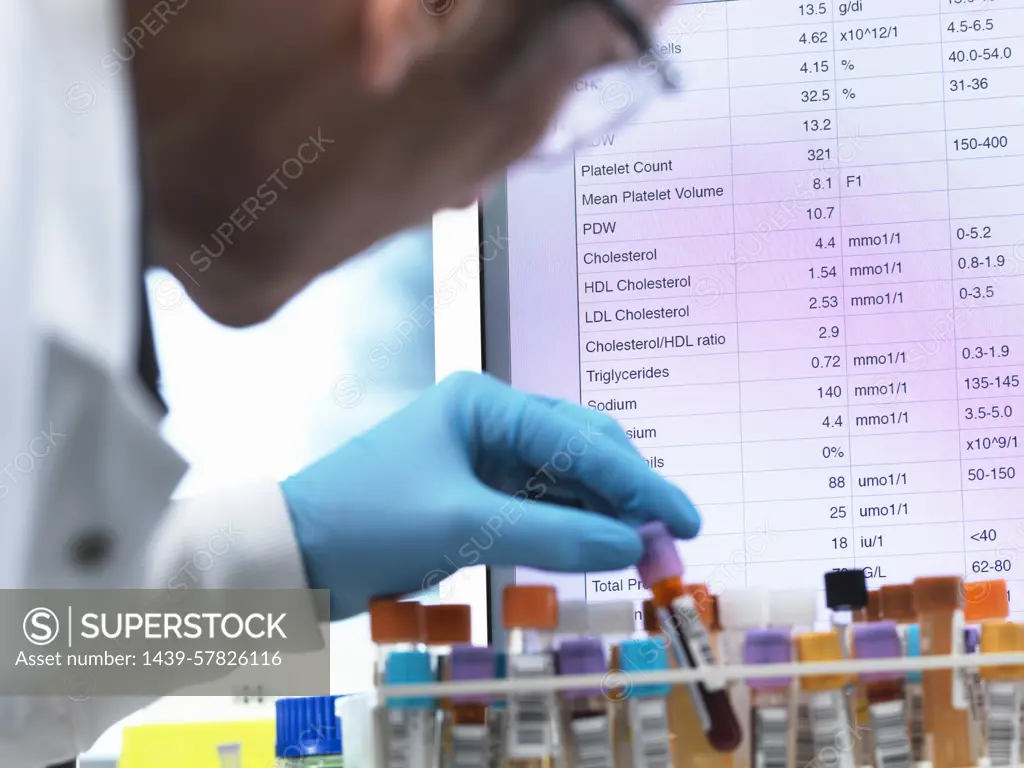
[[[602,434],[588,412],[566,415],[486,381],[470,409],[476,421],[472,431],[484,454],[525,465],[534,473],[530,480],[548,480],[565,490],[579,483],[628,522],[662,520],[680,539],[697,535],[700,517],[689,498],[636,452]]]

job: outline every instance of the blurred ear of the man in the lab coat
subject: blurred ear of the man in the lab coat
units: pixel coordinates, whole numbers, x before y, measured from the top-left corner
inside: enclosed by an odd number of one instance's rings
[[[364,74],[375,90],[393,89],[417,59],[461,30],[480,0],[364,0]]]

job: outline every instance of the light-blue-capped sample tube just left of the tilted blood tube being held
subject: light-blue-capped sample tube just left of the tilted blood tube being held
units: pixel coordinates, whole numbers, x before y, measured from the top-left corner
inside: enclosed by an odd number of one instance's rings
[[[620,695],[626,699],[627,736],[624,740],[629,744],[625,756],[628,765],[632,768],[674,768],[673,734],[669,727],[672,687],[668,683],[636,683],[632,677],[668,670],[666,643],[655,637],[627,640],[618,646],[618,668],[627,681]]]

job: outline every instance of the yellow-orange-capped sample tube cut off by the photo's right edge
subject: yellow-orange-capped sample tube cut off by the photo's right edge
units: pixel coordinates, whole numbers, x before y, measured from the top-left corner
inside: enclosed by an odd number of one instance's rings
[[[1024,626],[998,621],[981,625],[982,653],[1022,651]],[[981,679],[985,689],[985,755],[989,765],[992,768],[1020,765],[1024,666],[984,667]]]

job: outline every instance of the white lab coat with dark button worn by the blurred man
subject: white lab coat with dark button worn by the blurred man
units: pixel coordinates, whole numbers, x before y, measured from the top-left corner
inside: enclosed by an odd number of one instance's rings
[[[0,588],[302,588],[276,483],[168,506],[184,463],[135,381],[130,83],[100,63],[130,51],[119,19],[118,0],[0,1]],[[86,566],[70,544],[97,534]],[[74,758],[147,702],[0,697],[0,768]]]

